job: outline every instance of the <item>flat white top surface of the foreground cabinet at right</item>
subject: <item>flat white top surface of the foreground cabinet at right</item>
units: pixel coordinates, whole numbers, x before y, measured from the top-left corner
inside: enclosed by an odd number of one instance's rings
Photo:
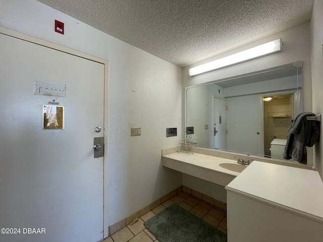
[[[323,222],[317,171],[253,161],[226,190]]]

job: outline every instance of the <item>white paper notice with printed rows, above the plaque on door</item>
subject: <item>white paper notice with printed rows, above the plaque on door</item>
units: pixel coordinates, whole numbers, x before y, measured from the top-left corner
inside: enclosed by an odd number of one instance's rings
[[[66,97],[66,84],[35,81],[35,95]]]

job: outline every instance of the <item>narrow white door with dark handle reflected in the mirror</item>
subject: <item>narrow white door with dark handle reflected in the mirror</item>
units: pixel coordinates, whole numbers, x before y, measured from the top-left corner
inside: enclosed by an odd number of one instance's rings
[[[213,98],[214,148],[227,149],[226,100]]]

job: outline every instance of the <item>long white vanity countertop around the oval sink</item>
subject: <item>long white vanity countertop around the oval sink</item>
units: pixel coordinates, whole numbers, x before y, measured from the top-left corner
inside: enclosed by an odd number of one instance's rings
[[[219,157],[214,157],[209,155],[202,155],[198,153],[188,154],[184,152],[175,152],[168,155],[164,155],[163,157],[188,163],[208,170],[228,174],[231,176],[237,176],[240,174],[240,172],[228,170],[219,166],[221,163],[237,164],[237,161],[234,161],[234,160],[229,160],[229,159],[224,159],[224,158],[219,158]]]

